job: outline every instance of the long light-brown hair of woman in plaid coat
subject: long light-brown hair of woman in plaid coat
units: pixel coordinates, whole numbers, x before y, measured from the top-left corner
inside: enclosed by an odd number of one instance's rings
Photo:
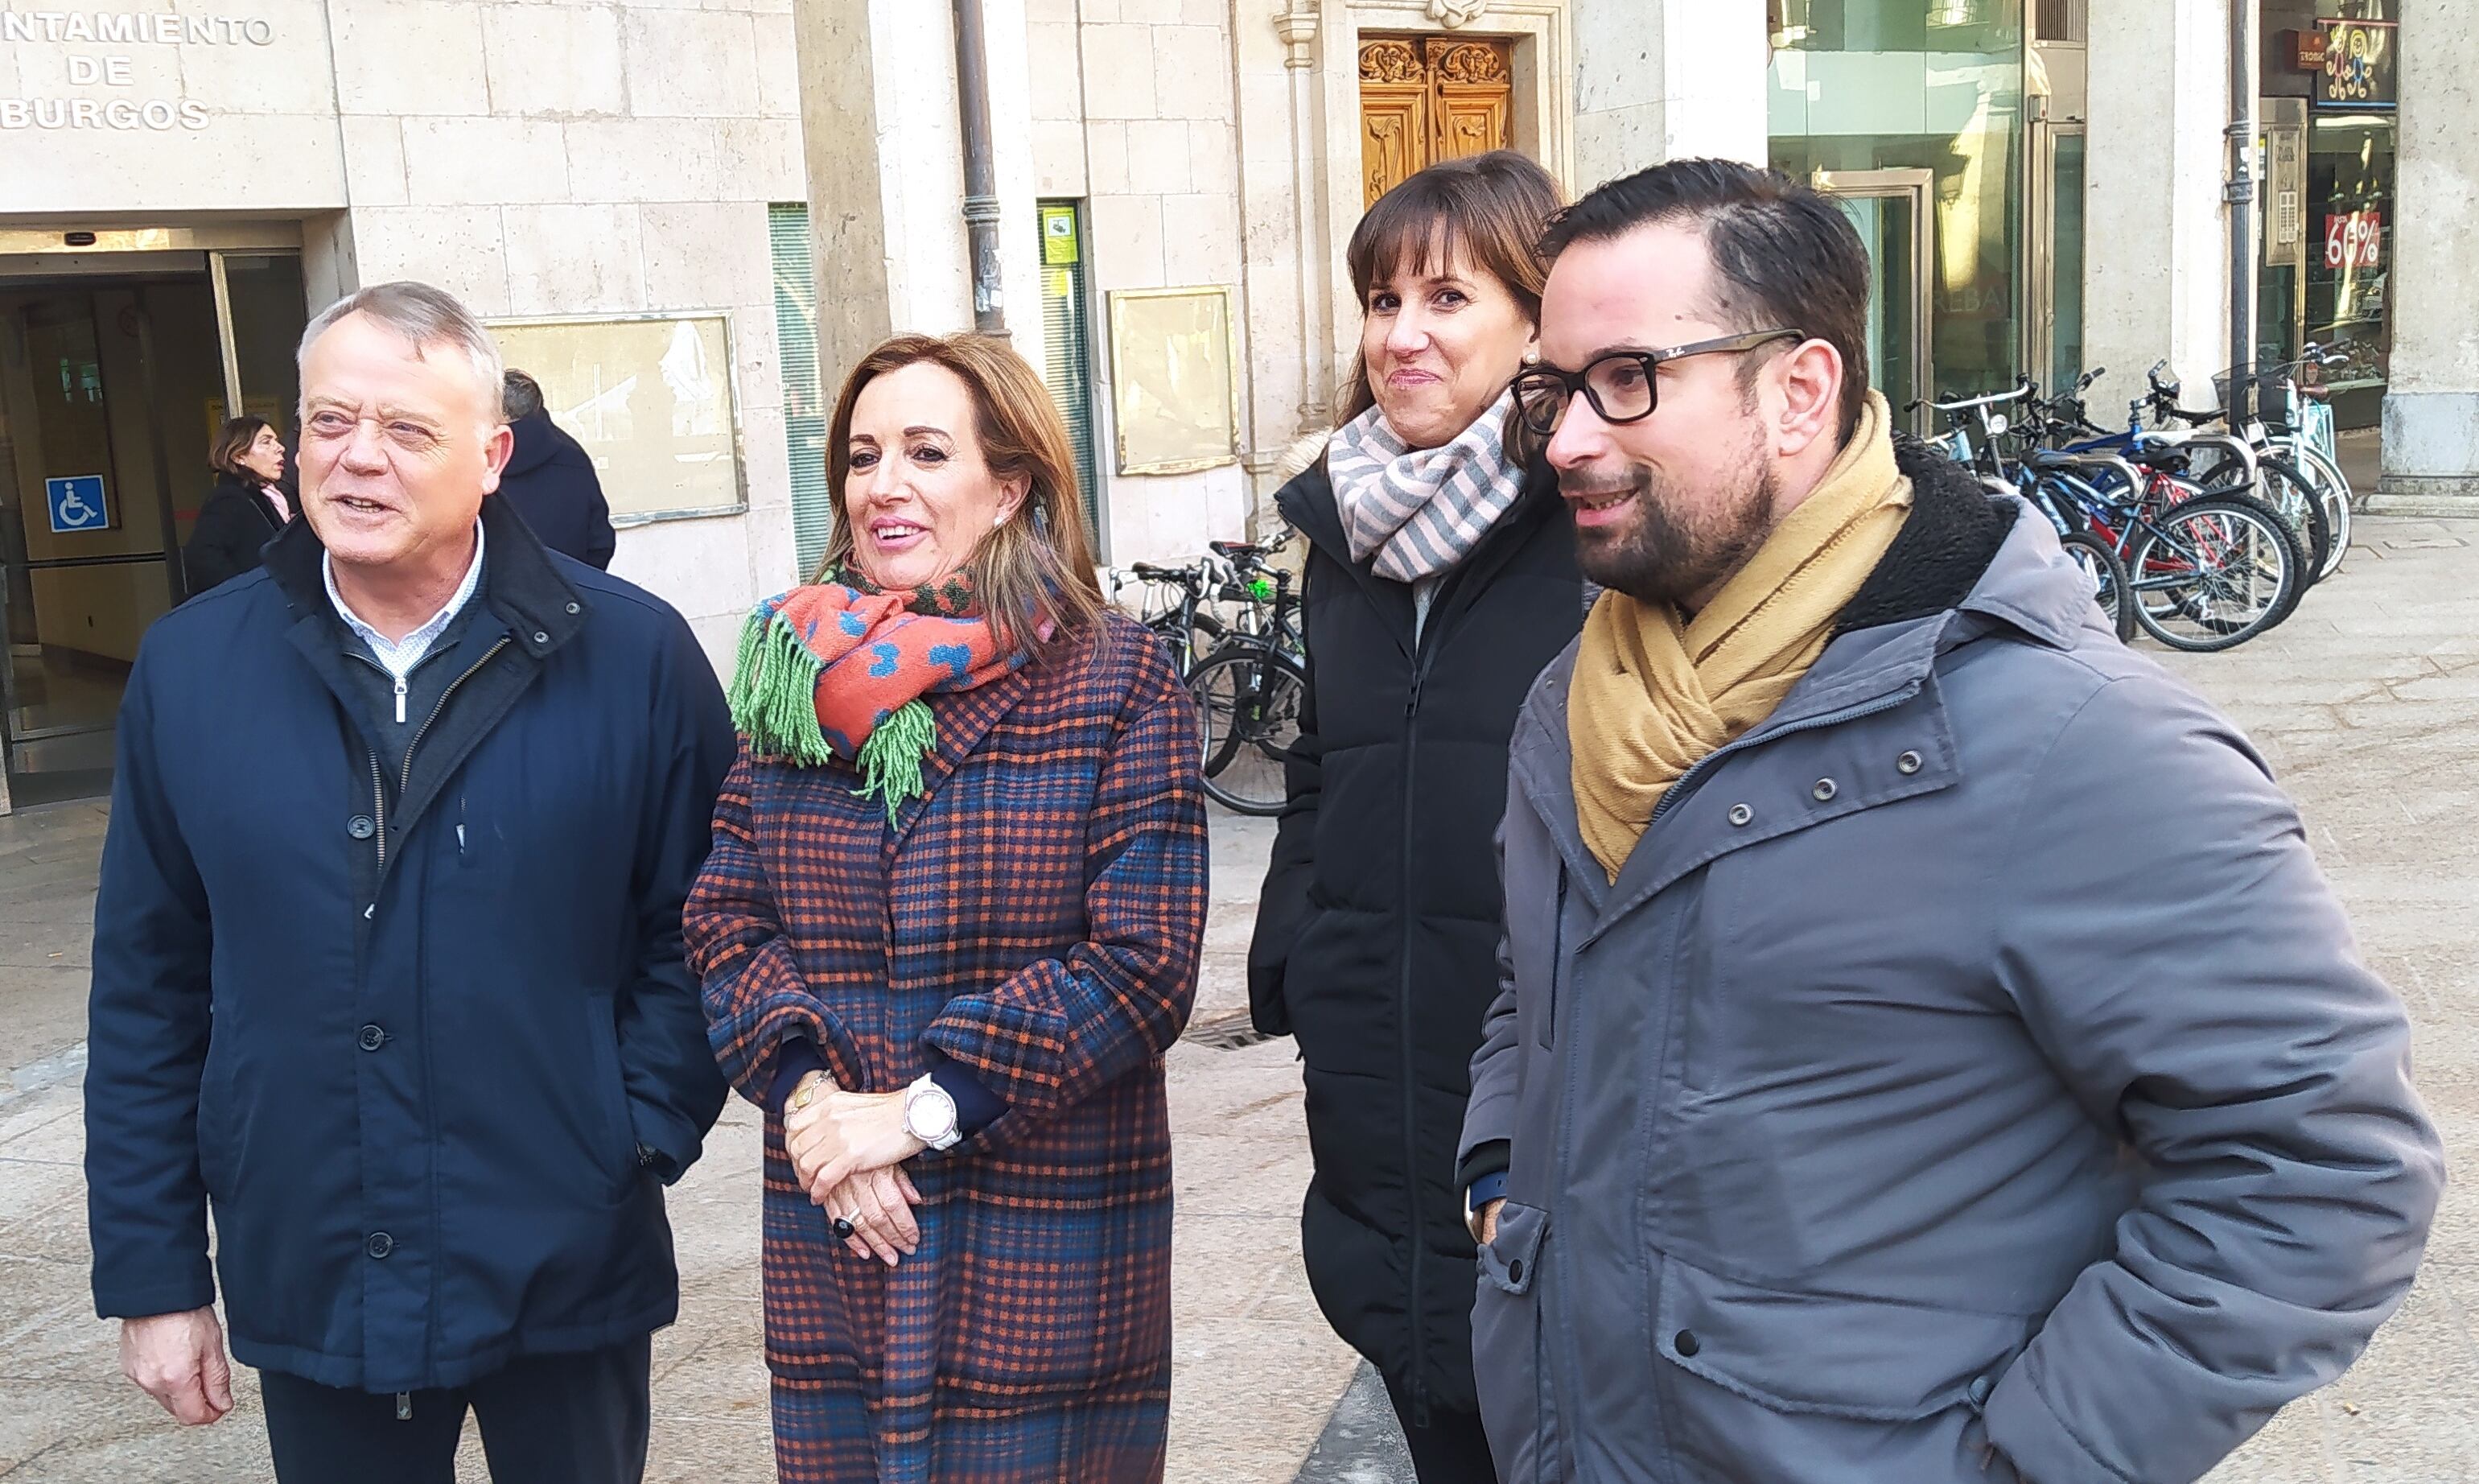
[[[1041,377],[1011,344],[992,334],[897,334],[860,357],[835,394],[826,429],[826,486],[835,500],[835,535],[811,582],[853,560],[853,515],[843,481],[853,473],[853,404],[860,389],[912,364],[944,367],[972,394],[972,439],[994,478],[1024,478],[1031,488],[1016,515],[982,538],[972,552],[974,587],[989,612],[1002,649],[1044,647],[1091,629],[1103,612],[1093,575],[1093,535],[1076,493],[1076,453]]]

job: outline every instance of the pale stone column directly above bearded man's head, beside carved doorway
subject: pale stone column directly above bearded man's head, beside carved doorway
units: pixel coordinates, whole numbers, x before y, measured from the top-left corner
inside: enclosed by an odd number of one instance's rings
[[[1574,188],[1666,159],[1765,164],[1765,7],[1584,0],[1574,7]]]

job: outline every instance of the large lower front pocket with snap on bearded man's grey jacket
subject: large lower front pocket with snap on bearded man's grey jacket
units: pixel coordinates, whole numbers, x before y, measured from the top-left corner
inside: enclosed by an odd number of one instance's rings
[[[1768,1412],[1916,1422],[1978,1407],[2035,1318],[1760,1288],[1661,1264],[1656,1353]]]

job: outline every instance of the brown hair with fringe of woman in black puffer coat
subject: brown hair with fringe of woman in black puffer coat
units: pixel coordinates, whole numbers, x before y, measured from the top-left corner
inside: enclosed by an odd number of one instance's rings
[[[1438,161],[1378,196],[1361,225],[1351,228],[1344,268],[1351,297],[1368,312],[1368,295],[1413,273],[1433,273],[1463,258],[1495,277],[1532,325],[1542,320],[1542,285],[1549,260],[1539,253],[1549,216],[1564,206],[1549,171],[1512,149]],[[1351,357],[1341,421],[1376,406],[1368,362]]]

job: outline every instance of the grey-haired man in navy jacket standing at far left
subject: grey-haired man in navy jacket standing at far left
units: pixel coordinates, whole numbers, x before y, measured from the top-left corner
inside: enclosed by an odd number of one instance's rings
[[[637,1479],[662,1184],[724,1100],[679,909],[734,736],[687,624],[498,500],[501,364],[379,285],[302,337],[302,515],[121,704],[94,909],[94,1303],[278,1479]],[[206,1219],[218,1251],[208,1266]]]

